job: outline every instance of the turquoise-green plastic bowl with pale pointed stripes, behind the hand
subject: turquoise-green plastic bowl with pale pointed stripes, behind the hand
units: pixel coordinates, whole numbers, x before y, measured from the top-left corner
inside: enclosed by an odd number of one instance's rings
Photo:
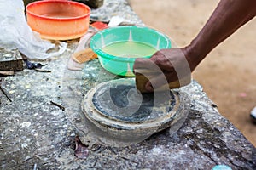
[[[113,44],[120,43],[121,48]],[[125,47],[126,43],[143,44],[137,45],[137,49],[134,51],[131,48],[132,58],[127,54],[127,49],[130,51],[130,47]],[[106,52],[104,49],[113,46],[112,51],[116,52]],[[98,55],[98,59],[104,69],[113,74],[133,77],[132,72],[133,64],[135,59],[139,58],[150,58],[152,54],[147,54],[148,48],[154,48],[154,52],[162,48],[171,48],[171,40],[161,33],[154,29],[144,27],[144,26],[117,26],[111,27],[102,31],[98,31],[90,40],[90,48]],[[140,50],[142,48],[142,50]],[[139,54],[143,51],[145,55]],[[138,54],[136,54],[138,53]],[[150,52],[149,52],[150,53]],[[124,57],[125,56],[125,57]]]

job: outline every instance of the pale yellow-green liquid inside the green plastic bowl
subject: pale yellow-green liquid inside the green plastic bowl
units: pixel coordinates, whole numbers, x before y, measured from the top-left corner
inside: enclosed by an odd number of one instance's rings
[[[102,51],[117,57],[142,58],[153,55],[158,49],[143,42],[113,42]]]

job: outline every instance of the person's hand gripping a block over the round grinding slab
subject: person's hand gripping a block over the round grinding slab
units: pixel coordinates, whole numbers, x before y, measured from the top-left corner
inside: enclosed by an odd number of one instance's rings
[[[146,92],[153,92],[167,83],[170,88],[178,88],[191,81],[185,48],[161,49],[150,59],[138,58],[133,69],[135,74],[143,74],[149,80],[143,87]]]

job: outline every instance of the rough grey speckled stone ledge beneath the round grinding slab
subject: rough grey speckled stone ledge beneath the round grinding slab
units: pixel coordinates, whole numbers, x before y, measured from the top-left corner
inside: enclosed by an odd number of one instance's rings
[[[126,20],[141,22],[125,1],[106,3],[119,4],[122,12],[117,14]],[[82,99],[96,84],[118,77],[104,71],[97,59],[86,63],[83,71],[67,70],[67,60],[77,45],[77,41],[68,42],[65,54],[44,62],[51,72],[24,70],[0,81],[12,99],[0,92],[2,169],[211,169],[217,164],[256,169],[253,144],[218,113],[195,81],[180,88],[191,103],[189,116],[176,133],[168,128],[122,148],[90,139],[93,132],[82,116]],[[87,159],[74,156],[77,135],[89,145]]]

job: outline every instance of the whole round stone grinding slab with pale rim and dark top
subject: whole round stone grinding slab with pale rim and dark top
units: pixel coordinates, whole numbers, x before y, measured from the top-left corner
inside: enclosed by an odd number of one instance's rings
[[[102,82],[84,97],[84,116],[108,137],[138,142],[184,116],[185,99],[176,91],[141,94],[134,78]]]

